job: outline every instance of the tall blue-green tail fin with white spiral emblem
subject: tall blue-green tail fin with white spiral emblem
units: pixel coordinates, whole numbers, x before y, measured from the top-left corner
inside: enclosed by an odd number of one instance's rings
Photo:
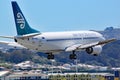
[[[22,14],[17,2],[12,1],[12,8],[17,29],[17,35],[25,35],[30,33],[37,33],[39,31],[32,29]]]

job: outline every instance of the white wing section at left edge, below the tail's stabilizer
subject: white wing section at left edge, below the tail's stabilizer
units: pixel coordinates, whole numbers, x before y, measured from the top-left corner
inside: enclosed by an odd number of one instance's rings
[[[3,48],[17,48],[17,49],[24,49],[25,47],[16,43],[16,42],[7,42],[7,41],[0,41],[0,47]]]

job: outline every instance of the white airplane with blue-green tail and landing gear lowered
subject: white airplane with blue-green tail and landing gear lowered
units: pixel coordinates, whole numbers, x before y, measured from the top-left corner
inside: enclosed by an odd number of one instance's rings
[[[44,52],[48,59],[54,59],[54,54],[71,52],[70,59],[76,59],[76,51],[86,51],[97,56],[102,47],[116,39],[105,40],[102,34],[95,31],[63,31],[41,33],[30,27],[16,1],[12,1],[12,9],[16,24],[16,36],[0,36],[14,39],[14,41],[27,49]],[[4,42],[5,43],[5,42]],[[3,44],[4,44],[3,43]]]

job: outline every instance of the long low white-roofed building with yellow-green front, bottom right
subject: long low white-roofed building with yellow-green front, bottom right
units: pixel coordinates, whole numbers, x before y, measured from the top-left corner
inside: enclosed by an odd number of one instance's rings
[[[107,79],[109,76],[111,79]],[[112,77],[111,77],[112,76]],[[110,73],[51,73],[50,80],[114,80],[114,74]]]

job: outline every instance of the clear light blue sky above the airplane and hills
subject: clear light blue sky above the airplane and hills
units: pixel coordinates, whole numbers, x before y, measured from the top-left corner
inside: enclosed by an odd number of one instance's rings
[[[0,0],[0,35],[15,36],[12,0]],[[120,0],[14,0],[40,32],[120,28]]]

